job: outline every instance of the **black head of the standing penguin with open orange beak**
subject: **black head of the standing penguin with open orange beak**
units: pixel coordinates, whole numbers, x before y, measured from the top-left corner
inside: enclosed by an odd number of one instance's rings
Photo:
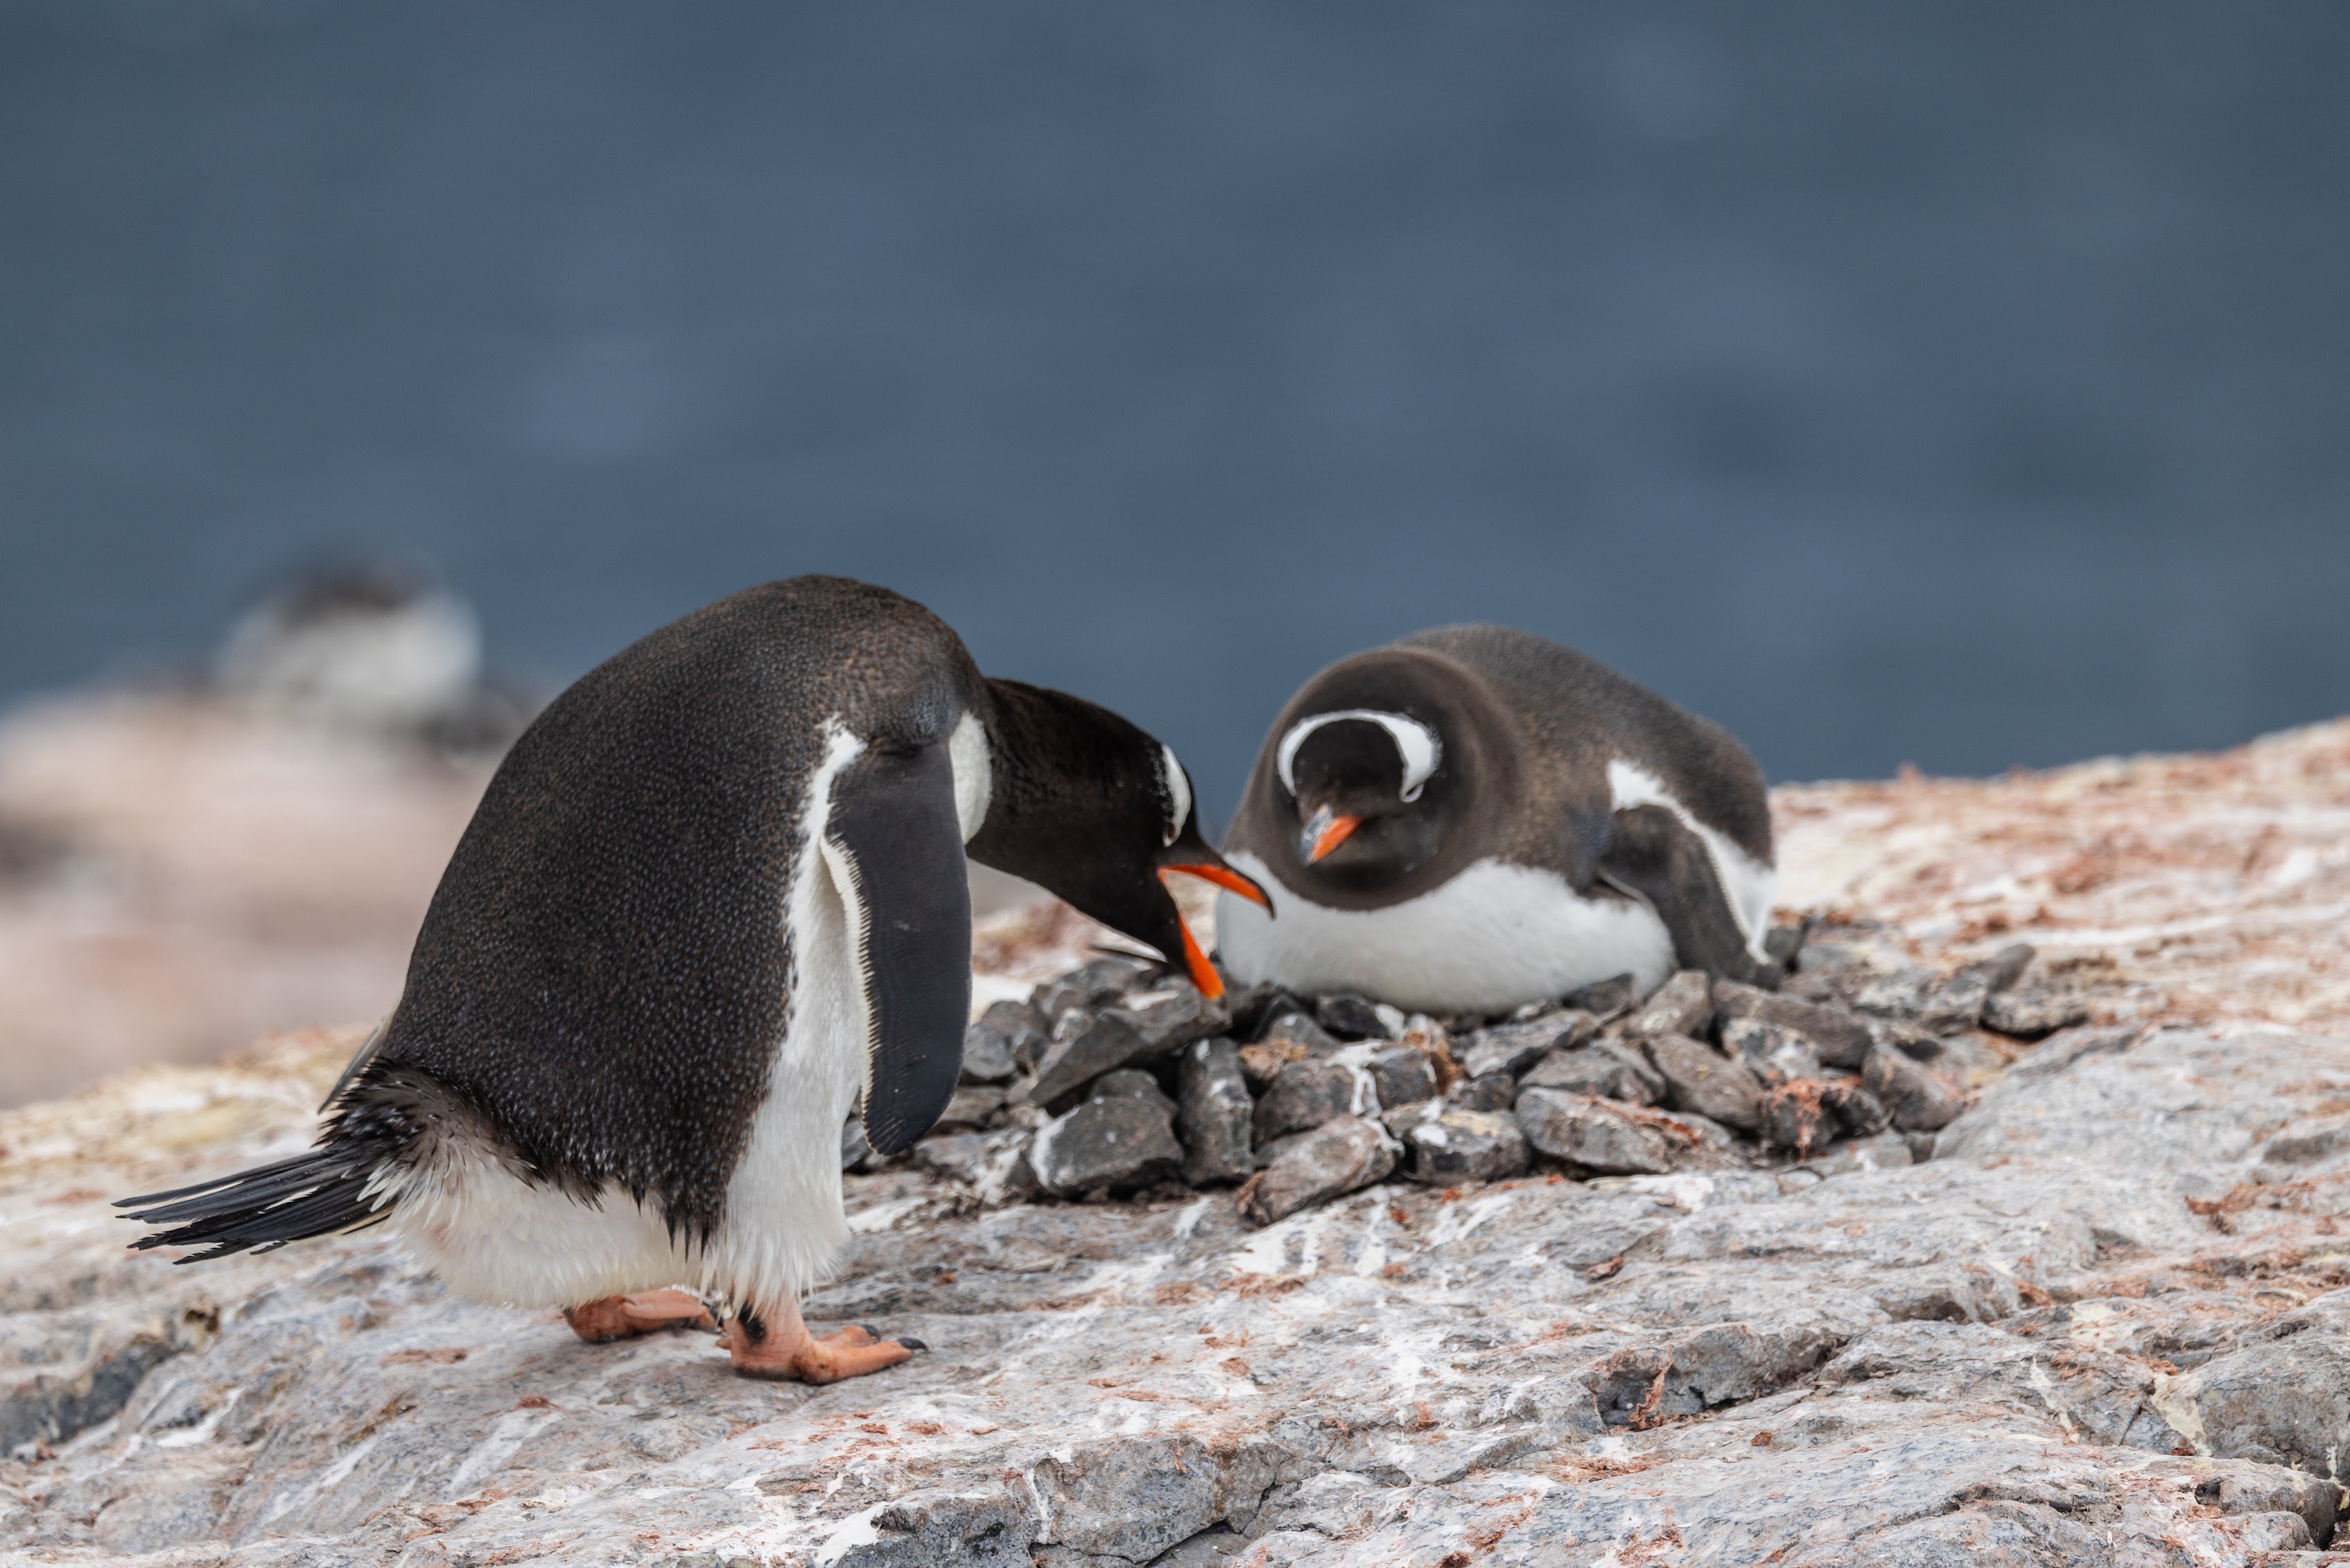
[[[987,684],[994,790],[971,858],[1046,886],[1180,961],[1203,994],[1224,994],[1166,879],[1201,877],[1267,912],[1274,903],[1201,837],[1191,776],[1173,748],[1074,696]]]

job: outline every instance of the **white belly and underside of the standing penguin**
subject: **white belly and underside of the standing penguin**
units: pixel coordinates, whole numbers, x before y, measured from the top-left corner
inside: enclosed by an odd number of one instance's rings
[[[573,1307],[691,1286],[773,1312],[827,1274],[848,1239],[841,1121],[865,1086],[865,987],[841,891],[853,882],[820,846],[832,776],[860,750],[839,733],[811,788],[808,849],[790,893],[790,1018],[710,1244],[672,1241],[656,1208],[620,1187],[580,1204],[515,1178],[484,1150],[418,1173],[392,1213],[407,1246],[454,1291],[508,1307]]]

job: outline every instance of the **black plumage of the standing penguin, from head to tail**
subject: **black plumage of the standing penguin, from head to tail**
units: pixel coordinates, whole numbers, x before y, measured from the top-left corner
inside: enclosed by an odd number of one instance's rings
[[[870,997],[884,1037],[907,1020],[900,1077],[928,1086],[891,1105],[877,1084],[886,1114],[867,1107],[870,1131],[877,1147],[909,1145],[938,1112],[924,1095],[952,1088],[968,1004],[971,905],[942,785],[966,712],[987,729],[994,776],[971,856],[1177,954],[1156,865],[1213,851],[1196,813],[1166,842],[1152,736],[1058,691],[987,682],[938,616],[884,588],[766,583],[660,628],[548,705],[465,827],[400,1006],[320,1147],[125,1199],[176,1225],[141,1246],[219,1255],[348,1229],[371,1213],[369,1175],[414,1161],[435,1119],[465,1119],[524,1180],[590,1201],[618,1185],[672,1237],[707,1239],[799,980],[785,907],[832,715],[867,748],[834,780],[832,835],[874,898],[895,898],[874,912],[891,929],[872,957],[898,969]]]

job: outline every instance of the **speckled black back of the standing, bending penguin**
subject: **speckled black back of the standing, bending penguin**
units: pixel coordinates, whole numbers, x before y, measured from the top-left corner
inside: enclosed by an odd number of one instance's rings
[[[540,1180],[618,1182],[707,1237],[790,1016],[827,719],[914,748],[985,703],[938,616],[848,578],[750,588],[623,649],[491,778],[362,1088],[428,1072]]]

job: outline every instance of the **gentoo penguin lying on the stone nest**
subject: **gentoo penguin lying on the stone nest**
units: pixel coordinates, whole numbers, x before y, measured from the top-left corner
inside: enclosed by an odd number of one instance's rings
[[[1452,625],[1344,658],[1274,722],[1220,900],[1238,980],[1502,1013],[1676,964],[1767,978],[1770,804],[1723,729],[1542,637]]]

